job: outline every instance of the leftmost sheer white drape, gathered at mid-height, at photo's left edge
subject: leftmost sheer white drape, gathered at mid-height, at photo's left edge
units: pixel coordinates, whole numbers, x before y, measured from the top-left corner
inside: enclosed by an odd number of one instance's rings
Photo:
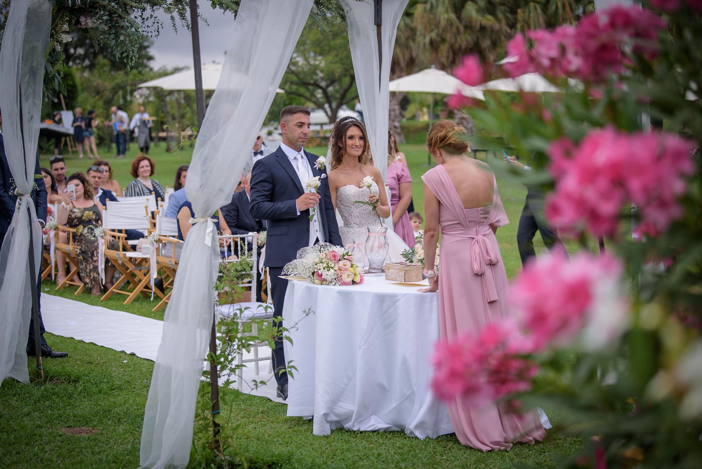
[[[13,0],[0,50],[5,153],[18,192],[27,194],[18,199],[0,252],[0,383],[7,376],[29,381],[27,332],[32,289],[37,288],[37,279],[29,276],[29,229],[34,242],[35,272],[39,272],[41,228],[28,194],[32,192],[37,163],[44,52],[50,25],[48,0]]]

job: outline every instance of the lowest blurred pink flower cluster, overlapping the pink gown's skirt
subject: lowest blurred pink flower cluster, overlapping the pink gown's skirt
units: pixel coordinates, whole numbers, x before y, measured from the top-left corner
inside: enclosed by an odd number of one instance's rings
[[[432,390],[440,399],[460,395],[476,405],[531,389],[535,362],[526,351],[517,324],[490,324],[477,336],[465,334],[454,342],[439,342],[432,355]]]

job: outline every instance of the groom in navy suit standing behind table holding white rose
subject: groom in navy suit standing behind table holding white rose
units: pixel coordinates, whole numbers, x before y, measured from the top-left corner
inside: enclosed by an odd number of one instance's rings
[[[305,246],[318,242],[341,246],[328,180],[321,179],[317,192],[305,190],[307,180],[326,174],[314,168],[317,155],[303,150],[310,135],[310,111],[300,106],[284,107],[280,112],[280,131],[282,143],[275,152],[256,161],[251,175],[251,217],[268,220],[264,263],[270,272],[276,317],[283,314],[288,286],[288,281],[279,277],[284,265]],[[277,395],[287,399],[288,374],[284,371],[282,341],[276,341],[272,359]]]

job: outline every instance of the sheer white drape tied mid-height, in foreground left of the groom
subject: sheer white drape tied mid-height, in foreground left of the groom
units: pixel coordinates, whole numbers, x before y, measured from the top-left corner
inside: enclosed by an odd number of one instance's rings
[[[241,1],[187,173],[185,192],[197,219],[231,202],[312,2]],[[201,220],[187,233],[164,315],[141,437],[143,468],[184,468],[190,456],[219,255],[216,232],[208,228]]]

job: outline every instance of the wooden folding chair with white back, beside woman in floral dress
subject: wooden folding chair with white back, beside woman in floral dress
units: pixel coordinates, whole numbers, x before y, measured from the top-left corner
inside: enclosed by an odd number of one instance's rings
[[[140,204],[124,204],[123,202],[107,201],[107,208],[102,211],[102,226],[114,239],[119,241],[118,249],[110,249],[106,246],[105,258],[112,261],[121,277],[107,293],[102,296],[102,300],[107,300],[114,293],[126,295],[124,304],[131,303],[139,294],[149,297],[152,293],[150,285],[150,256],[138,251],[128,250],[126,234],[114,232],[112,230],[145,230],[149,227],[147,209],[141,215]],[[122,286],[124,285],[124,289]],[[131,287],[131,290],[129,288]],[[154,289],[154,294],[159,298],[164,298],[164,294],[159,289]]]

